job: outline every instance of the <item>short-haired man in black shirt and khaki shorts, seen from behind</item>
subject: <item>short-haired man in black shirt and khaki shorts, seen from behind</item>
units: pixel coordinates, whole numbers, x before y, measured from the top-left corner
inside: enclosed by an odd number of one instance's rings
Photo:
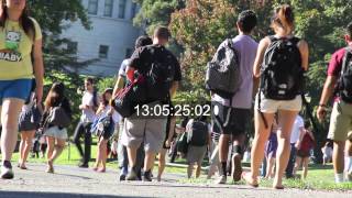
[[[167,98],[172,98],[176,92],[178,81],[182,78],[180,66],[176,57],[165,48],[169,36],[169,31],[166,28],[157,28],[154,32],[153,45],[138,48],[127,69],[130,81],[134,81],[135,72],[147,78],[146,84],[148,85],[145,89],[147,95],[144,102],[151,108],[168,103]],[[152,67],[154,64],[160,67]],[[158,72],[154,73],[156,70]],[[152,78],[156,78],[156,80]],[[136,113],[125,119],[127,147],[131,167],[128,180],[136,179],[136,150],[142,142],[144,142],[145,150],[143,180],[152,180],[151,169],[155,154],[162,147],[165,138],[166,122],[166,117],[143,118]]]

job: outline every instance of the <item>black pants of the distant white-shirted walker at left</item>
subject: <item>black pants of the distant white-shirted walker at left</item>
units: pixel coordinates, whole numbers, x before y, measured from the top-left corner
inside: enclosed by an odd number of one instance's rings
[[[77,146],[79,155],[81,157],[81,162],[84,164],[88,164],[90,161],[90,147],[91,147],[91,133],[90,133],[91,123],[78,122],[75,134],[74,134],[74,143]],[[80,145],[80,138],[85,138],[85,152]]]

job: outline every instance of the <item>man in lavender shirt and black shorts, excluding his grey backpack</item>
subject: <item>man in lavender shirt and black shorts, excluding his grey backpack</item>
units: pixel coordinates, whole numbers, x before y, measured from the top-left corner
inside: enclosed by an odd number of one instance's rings
[[[241,160],[243,155],[243,142],[245,139],[246,123],[250,122],[250,110],[252,107],[252,89],[253,89],[253,74],[252,67],[255,59],[257,43],[251,37],[252,31],[257,22],[256,15],[253,11],[243,11],[240,13],[237,29],[239,35],[231,41],[223,42],[218,52],[228,45],[231,46],[238,54],[239,59],[233,59],[238,65],[238,75],[241,80],[235,85],[237,91],[233,97],[227,99],[220,92],[212,92],[212,118],[215,130],[220,133],[219,140],[219,161],[221,163],[222,175],[217,180],[218,184],[227,183],[227,167],[229,142],[233,144],[233,155],[231,158],[231,174],[234,182],[241,179],[242,165]],[[209,79],[211,80],[211,79]],[[229,90],[234,91],[234,90]]]

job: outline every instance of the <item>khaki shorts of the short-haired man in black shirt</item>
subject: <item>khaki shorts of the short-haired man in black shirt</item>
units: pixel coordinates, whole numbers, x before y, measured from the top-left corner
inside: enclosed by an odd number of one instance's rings
[[[143,119],[131,118],[124,120],[125,145],[140,147],[144,142],[145,152],[157,153],[165,139],[167,118]]]

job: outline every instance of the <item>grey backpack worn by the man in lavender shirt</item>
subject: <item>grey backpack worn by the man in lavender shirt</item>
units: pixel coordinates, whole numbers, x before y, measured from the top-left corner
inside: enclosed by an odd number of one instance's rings
[[[206,88],[231,99],[241,85],[240,57],[233,42],[226,40],[207,64]]]

